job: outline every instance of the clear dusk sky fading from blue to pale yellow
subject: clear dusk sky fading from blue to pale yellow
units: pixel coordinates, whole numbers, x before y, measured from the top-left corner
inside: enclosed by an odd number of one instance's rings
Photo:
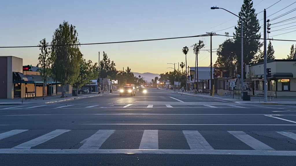
[[[256,13],[263,11],[279,0],[254,0]],[[266,10],[269,16],[294,3],[295,0],[281,0]],[[243,0],[13,0],[2,1],[0,6],[0,46],[38,45],[46,38],[51,42],[55,29],[64,20],[76,26],[80,43],[104,43],[128,40],[145,40],[203,35],[216,32],[224,35],[234,28],[223,30],[237,24],[238,18],[222,10],[211,10],[211,6],[225,8],[235,14],[241,9]],[[268,17],[274,18],[296,8],[296,3]],[[295,17],[296,11],[274,22]],[[257,18],[263,19],[263,12]],[[296,25],[285,22],[280,27],[271,25],[271,31]],[[273,22],[270,22],[271,24]],[[292,23],[284,25],[286,23]],[[221,24],[221,25],[220,25]],[[260,21],[263,25],[263,20]],[[291,27],[293,28],[293,27]],[[222,30],[222,31],[219,31]],[[295,30],[295,29],[294,29]],[[263,31],[263,30],[260,30]],[[295,40],[296,31],[275,31],[269,35],[278,35],[274,39]],[[262,33],[263,37],[263,33]],[[212,48],[217,49],[226,39],[213,36]],[[101,45],[82,45],[81,53],[86,60],[98,62],[98,52],[107,53],[116,68],[122,70],[128,66],[133,72],[164,73],[173,71],[171,64],[184,62],[184,46],[189,47],[187,66],[194,66],[195,54],[191,45],[203,40],[204,49],[210,49],[210,37],[184,38],[136,43],[117,43]],[[268,41],[267,41],[268,42]],[[276,59],[286,58],[292,44],[296,42],[272,41]],[[216,51],[216,50],[213,50]],[[0,56],[16,56],[23,59],[23,65],[38,63],[39,48],[0,48]],[[102,56],[101,56],[102,57]],[[213,53],[213,64],[217,55]],[[200,51],[198,66],[210,65],[210,53]],[[181,70],[181,68],[180,68]]]

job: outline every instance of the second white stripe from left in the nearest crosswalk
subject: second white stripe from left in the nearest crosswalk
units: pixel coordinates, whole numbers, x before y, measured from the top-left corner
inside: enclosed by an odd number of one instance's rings
[[[65,132],[68,132],[68,131],[71,131],[71,130],[65,130],[65,129],[54,130],[52,132],[44,134],[43,136],[40,136],[40,137],[37,137],[37,138],[32,139],[30,141],[19,144],[19,145],[13,147],[12,149],[30,149],[31,147],[35,147],[39,144],[42,144],[50,139],[53,139],[56,136],[59,136]]]

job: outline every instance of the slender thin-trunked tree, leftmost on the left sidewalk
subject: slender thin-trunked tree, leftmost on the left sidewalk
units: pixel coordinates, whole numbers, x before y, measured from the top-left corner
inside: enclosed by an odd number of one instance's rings
[[[40,72],[41,80],[43,81],[43,100],[45,100],[45,94],[46,94],[45,86],[46,86],[47,79],[50,76],[51,50],[49,47],[49,43],[46,42],[45,38],[40,40],[40,44],[38,46],[41,53],[39,54],[39,57],[38,57],[37,66],[40,65],[41,67],[41,69],[38,69],[38,71]]]

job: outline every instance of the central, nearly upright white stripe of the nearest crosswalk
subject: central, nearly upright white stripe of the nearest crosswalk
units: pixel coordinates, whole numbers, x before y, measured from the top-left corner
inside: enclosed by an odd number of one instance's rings
[[[144,130],[139,149],[158,149],[158,130]]]

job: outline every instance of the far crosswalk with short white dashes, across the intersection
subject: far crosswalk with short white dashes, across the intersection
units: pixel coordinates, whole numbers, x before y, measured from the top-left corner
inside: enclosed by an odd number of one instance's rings
[[[229,109],[246,109],[246,108],[260,108],[260,109],[288,109],[290,112],[296,112],[296,106],[260,106],[260,105],[239,105],[233,103],[203,103],[203,104],[73,104],[73,105],[61,105],[61,104],[48,104],[48,105],[21,105],[21,106],[1,106],[0,110],[24,110],[24,109],[98,109],[98,108],[229,108]],[[285,110],[283,110],[285,111]]]

